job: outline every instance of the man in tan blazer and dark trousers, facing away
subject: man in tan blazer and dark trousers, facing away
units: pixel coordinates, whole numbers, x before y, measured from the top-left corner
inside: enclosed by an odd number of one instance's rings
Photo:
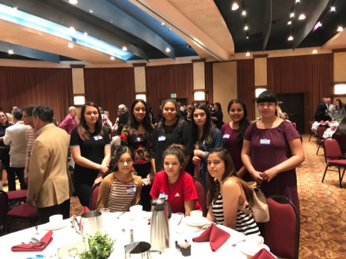
[[[52,215],[70,216],[70,197],[74,191],[67,168],[70,137],[52,124],[50,107],[36,106],[32,116],[39,136],[31,153],[27,202],[37,207],[39,222],[43,224]]]

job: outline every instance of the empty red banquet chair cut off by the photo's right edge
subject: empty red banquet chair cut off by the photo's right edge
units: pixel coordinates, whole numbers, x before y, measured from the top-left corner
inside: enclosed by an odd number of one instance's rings
[[[339,172],[339,183],[340,188],[342,188],[342,180],[346,169],[346,159],[342,159],[343,155],[341,153],[339,144],[336,139],[327,137],[324,141],[323,149],[324,159],[326,161],[326,170],[324,171],[322,182],[324,181],[324,177],[326,176],[327,171]],[[337,167],[338,170],[328,169],[330,167]],[[344,167],[343,175],[341,175],[341,167]]]

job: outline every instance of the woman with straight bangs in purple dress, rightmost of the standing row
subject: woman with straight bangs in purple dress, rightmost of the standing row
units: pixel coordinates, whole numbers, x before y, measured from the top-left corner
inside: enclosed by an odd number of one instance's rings
[[[300,135],[277,117],[274,92],[262,92],[257,105],[262,119],[245,132],[242,161],[266,197],[283,195],[299,211],[296,167],[304,161]]]

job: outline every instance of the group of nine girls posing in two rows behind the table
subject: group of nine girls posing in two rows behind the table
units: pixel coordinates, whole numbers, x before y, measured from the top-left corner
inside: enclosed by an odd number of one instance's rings
[[[264,91],[257,102],[262,120],[250,124],[245,103],[234,99],[228,104],[232,122],[219,130],[205,104],[193,107],[190,127],[180,118],[175,100],[167,99],[162,121],[153,126],[145,101],[135,100],[121,134],[122,146],[115,153],[117,168],[101,182],[97,209],[128,211],[141,203],[150,210],[150,199],[165,198],[173,213],[202,210],[191,172],[185,171],[190,161],[195,165],[192,173],[209,190],[209,220],[245,234],[259,234],[252,216],[238,210],[238,206],[251,207],[251,187],[246,183],[251,180],[260,184],[267,197],[284,195],[299,209],[295,168],[304,160],[300,135],[292,124],[277,117],[273,92]],[[71,149],[78,165],[78,196],[88,206],[91,187],[108,171],[110,140],[103,132],[97,105],[86,103],[81,114],[84,119],[71,134]],[[148,185],[142,178],[147,178]]]

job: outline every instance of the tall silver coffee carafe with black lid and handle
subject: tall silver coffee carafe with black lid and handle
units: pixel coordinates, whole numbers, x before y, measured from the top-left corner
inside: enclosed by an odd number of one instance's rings
[[[168,208],[168,216],[165,212],[165,204]],[[151,249],[155,251],[165,252],[166,248],[170,248],[170,226],[168,218],[171,218],[171,206],[165,199],[154,199],[153,215],[150,222],[150,243]]]

